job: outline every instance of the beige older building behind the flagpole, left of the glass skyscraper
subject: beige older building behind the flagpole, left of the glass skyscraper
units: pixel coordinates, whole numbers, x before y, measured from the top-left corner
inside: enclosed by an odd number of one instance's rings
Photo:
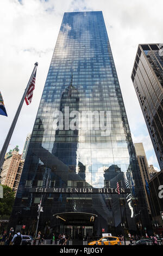
[[[21,154],[19,154],[18,151],[18,146],[16,146],[14,150],[10,150],[5,155],[1,172],[1,183],[12,188],[15,194],[17,192],[24,164],[24,161],[21,160]]]

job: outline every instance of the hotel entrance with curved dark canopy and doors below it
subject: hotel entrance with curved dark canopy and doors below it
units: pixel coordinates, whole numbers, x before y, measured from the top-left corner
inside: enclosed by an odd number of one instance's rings
[[[64,212],[53,216],[59,221],[60,233],[71,236],[72,240],[83,240],[84,236],[93,236],[97,215],[85,212]]]

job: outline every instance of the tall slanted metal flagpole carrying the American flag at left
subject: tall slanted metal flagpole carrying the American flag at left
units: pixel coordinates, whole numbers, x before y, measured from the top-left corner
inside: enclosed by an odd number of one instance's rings
[[[38,62],[35,63],[35,67],[33,69],[32,75],[30,76],[30,79],[28,81],[27,87],[26,87],[26,89],[24,91],[24,94],[23,94],[23,97],[21,99],[20,105],[18,106],[18,109],[16,111],[14,120],[12,121],[11,127],[9,129],[8,135],[7,135],[7,137],[6,137],[5,141],[4,141],[4,144],[3,144],[3,147],[2,147],[2,150],[1,150],[1,153],[0,153],[0,175],[1,175],[1,168],[2,168],[2,165],[3,165],[3,162],[4,162],[5,153],[7,152],[7,149],[8,149],[8,146],[9,146],[9,142],[11,140],[12,133],[14,132],[14,128],[16,126],[16,122],[17,122],[18,116],[19,116],[20,111],[22,109],[22,105],[24,103],[24,99],[26,97],[29,85],[30,85],[30,83],[33,80],[33,77],[34,77],[35,71],[37,69],[37,66],[38,66]],[[1,183],[1,178],[0,178],[0,183]]]

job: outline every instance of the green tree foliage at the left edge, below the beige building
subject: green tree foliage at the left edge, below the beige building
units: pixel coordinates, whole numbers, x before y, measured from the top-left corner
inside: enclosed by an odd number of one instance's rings
[[[0,198],[0,216],[10,216],[14,205],[15,194],[8,186],[3,187],[3,198]]]

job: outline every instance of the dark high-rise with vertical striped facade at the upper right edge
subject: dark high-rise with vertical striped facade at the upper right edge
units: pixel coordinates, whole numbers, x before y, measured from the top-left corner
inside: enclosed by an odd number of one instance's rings
[[[159,44],[138,46],[131,79],[145,117],[156,157],[163,168],[163,57]]]

